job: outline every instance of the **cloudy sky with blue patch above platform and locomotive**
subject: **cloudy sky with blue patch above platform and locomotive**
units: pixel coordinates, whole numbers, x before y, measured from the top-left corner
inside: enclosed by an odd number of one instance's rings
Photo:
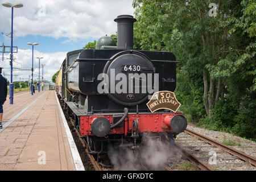
[[[13,46],[14,68],[32,68],[32,46],[34,46],[34,80],[39,77],[39,60],[44,66],[44,80],[51,80],[69,51],[81,49],[88,42],[101,36],[115,34],[118,15],[134,16],[133,0],[0,0],[0,46],[11,46],[11,38],[2,33],[11,32],[11,8],[2,3],[22,3],[23,7],[14,8]],[[2,48],[0,47],[0,51]],[[0,54],[2,75],[10,81],[10,53]],[[31,71],[14,71],[13,81],[28,80]],[[42,67],[40,67],[40,76]]]

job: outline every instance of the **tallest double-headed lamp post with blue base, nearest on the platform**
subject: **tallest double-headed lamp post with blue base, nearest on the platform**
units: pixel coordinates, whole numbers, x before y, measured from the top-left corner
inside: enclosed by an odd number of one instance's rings
[[[9,2],[2,3],[2,6],[11,7],[11,82],[10,82],[10,90],[9,90],[9,98],[10,104],[13,104],[13,8],[23,7],[22,3],[11,4]]]

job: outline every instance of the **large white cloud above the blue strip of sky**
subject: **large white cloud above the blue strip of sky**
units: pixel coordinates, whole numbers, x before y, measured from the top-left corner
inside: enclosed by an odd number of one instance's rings
[[[1,4],[5,0],[0,0]],[[11,1],[11,3],[18,2]],[[42,35],[53,38],[100,38],[117,31],[114,18],[133,15],[132,0],[27,0],[14,9],[14,36]],[[0,7],[0,31],[10,32],[11,9]]]

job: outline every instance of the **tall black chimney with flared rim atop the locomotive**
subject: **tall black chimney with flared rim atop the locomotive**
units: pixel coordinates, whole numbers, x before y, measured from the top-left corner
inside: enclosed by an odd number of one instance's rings
[[[136,19],[131,15],[119,15],[117,22],[117,48],[133,49],[133,23]]]

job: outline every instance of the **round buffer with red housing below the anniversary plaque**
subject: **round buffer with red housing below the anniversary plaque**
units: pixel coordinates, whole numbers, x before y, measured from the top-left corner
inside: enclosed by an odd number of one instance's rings
[[[184,117],[184,115],[175,115],[174,117],[171,117],[170,115],[167,115],[164,118],[164,122],[171,127],[172,131],[175,133],[181,133],[183,132],[188,125],[187,119]]]

